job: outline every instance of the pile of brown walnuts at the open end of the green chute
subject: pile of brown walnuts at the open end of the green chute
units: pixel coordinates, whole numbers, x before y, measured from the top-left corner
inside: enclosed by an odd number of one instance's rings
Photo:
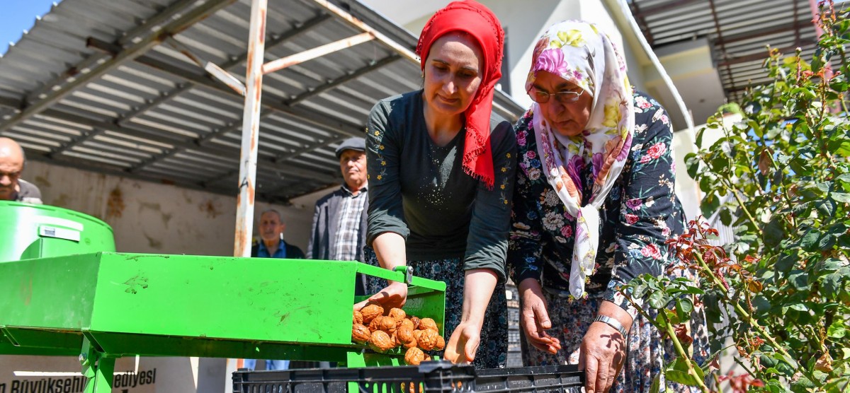
[[[445,347],[445,340],[439,335],[433,319],[408,316],[400,308],[390,309],[384,315],[383,307],[376,304],[354,311],[351,340],[357,344],[368,343],[377,352],[404,346],[407,348],[405,362],[413,366],[431,360],[424,351],[443,351]]]

